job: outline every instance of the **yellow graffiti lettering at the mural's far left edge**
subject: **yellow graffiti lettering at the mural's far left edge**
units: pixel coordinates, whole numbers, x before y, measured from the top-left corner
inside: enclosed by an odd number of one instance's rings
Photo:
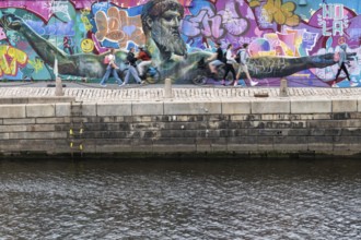
[[[27,55],[11,46],[0,45],[0,76],[16,75],[18,69],[27,62]]]

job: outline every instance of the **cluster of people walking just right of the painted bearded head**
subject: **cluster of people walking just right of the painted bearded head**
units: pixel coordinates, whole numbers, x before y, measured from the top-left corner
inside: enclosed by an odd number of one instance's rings
[[[228,45],[225,52],[223,52],[220,43],[216,43],[216,53],[208,59],[210,61],[209,67],[211,73],[217,74],[218,68],[224,64],[222,85],[225,84],[226,76],[230,72],[233,76],[232,85],[234,86],[237,85],[242,72],[246,74],[251,86],[256,86],[258,84],[258,82],[252,80],[247,68],[247,59],[249,58],[249,52],[247,49],[248,44],[244,44],[242,48],[236,52],[236,55],[233,53],[232,44]],[[236,59],[238,59],[238,62],[236,61]],[[234,65],[238,65],[237,73],[235,72]]]

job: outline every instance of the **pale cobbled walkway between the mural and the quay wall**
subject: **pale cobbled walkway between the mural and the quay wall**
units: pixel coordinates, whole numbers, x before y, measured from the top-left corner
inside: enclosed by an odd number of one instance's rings
[[[0,97],[54,97],[55,87],[53,83],[0,83]],[[130,84],[118,87],[109,84],[100,87],[98,84],[65,83],[65,96],[75,97],[78,101],[159,101],[164,99],[164,85]],[[173,85],[172,100],[197,101],[197,100],[237,100],[255,99],[255,94],[267,93],[268,97],[257,99],[279,98],[278,87],[233,87],[233,86],[196,86]],[[291,98],[360,98],[361,88],[322,88],[322,87],[292,87],[289,88]]]

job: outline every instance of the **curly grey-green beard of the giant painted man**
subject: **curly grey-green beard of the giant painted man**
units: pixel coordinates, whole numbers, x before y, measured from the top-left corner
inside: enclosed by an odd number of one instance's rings
[[[168,29],[160,23],[154,23],[151,34],[162,52],[174,52],[179,56],[187,53],[187,46],[180,38],[178,29]]]

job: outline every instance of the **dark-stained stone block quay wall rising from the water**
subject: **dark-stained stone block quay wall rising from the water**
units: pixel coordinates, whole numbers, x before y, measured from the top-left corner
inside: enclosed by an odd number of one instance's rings
[[[0,153],[361,151],[361,100],[0,105]]]

